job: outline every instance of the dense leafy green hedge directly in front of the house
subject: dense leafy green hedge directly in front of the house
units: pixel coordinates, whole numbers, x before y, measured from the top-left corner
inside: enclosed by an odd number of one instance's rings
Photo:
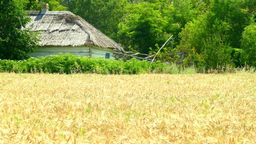
[[[167,64],[159,61],[150,65],[148,61],[116,61],[100,57],[82,57],[61,53],[24,61],[0,60],[0,72],[14,73],[98,73],[98,74],[142,74],[171,73]]]

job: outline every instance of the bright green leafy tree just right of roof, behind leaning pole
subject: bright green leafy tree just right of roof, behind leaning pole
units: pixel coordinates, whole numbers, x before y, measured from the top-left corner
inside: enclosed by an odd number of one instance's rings
[[[119,42],[127,50],[148,53],[156,50],[171,34],[173,47],[179,44],[178,34],[185,24],[200,15],[204,9],[201,0],[140,0],[125,7],[123,21],[119,24]],[[171,45],[166,53],[173,52]]]

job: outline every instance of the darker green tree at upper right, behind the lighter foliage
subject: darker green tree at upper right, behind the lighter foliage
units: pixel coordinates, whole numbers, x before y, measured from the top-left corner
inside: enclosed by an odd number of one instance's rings
[[[208,27],[216,19],[225,25],[223,39],[233,48],[240,48],[244,28],[250,24],[251,16],[241,10],[241,0],[214,0],[207,16]]]

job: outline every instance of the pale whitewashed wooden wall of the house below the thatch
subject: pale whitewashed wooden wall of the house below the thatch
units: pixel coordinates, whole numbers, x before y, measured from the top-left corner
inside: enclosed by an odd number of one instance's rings
[[[104,57],[106,53],[110,53],[110,58],[113,58],[113,49],[103,49],[100,47],[39,47],[34,53],[29,53],[32,57],[57,55],[58,53],[70,53],[80,56],[96,56]]]

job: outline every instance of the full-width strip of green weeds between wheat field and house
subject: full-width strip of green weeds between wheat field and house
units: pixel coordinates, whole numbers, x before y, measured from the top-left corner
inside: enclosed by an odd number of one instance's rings
[[[233,68],[231,65],[216,68],[183,67],[174,63],[167,64],[156,61],[152,64],[148,61],[131,59],[128,61],[105,59],[101,57],[82,57],[66,53],[63,55],[50,55],[27,60],[0,60],[0,72],[14,73],[97,73],[97,74],[195,74],[195,73],[241,73],[255,72],[255,67]]]

